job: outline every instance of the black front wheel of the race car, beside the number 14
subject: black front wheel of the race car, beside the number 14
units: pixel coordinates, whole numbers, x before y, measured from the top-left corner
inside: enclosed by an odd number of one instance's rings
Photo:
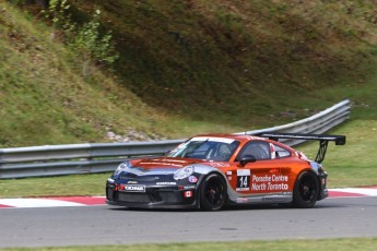
[[[203,179],[200,189],[200,208],[219,211],[226,201],[226,183],[217,174],[211,174]]]

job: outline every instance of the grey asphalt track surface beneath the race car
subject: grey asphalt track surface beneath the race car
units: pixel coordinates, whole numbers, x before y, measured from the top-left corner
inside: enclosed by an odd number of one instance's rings
[[[329,198],[314,208],[220,212],[108,205],[0,210],[0,248],[377,237],[377,198]]]

